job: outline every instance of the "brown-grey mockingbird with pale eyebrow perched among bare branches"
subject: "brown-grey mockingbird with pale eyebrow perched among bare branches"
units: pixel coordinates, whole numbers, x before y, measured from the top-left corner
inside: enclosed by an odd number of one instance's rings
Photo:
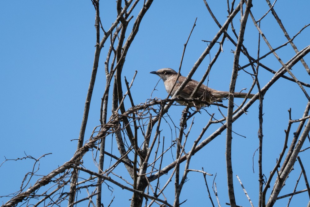
[[[176,90],[180,87],[180,85],[183,83],[185,77],[180,75],[178,78],[178,73],[175,72],[175,70],[172,70],[171,68],[163,68],[159,69],[157,71],[150,72],[152,74],[156,74],[164,81],[164,85],[166,88],[166,91],[170,93],[171,91],[171,97],[174,95]],[[197,84],[199,82],[196,80],[190,80],[187,85],[183,88],[183,90],[179,93],[179,97],[181,97],[181,100],[176,100],[181,105],[186,105],[186,103],[189,103],[191,106],[201,107],[201,106],[209,106],[210,104],[216,104],[217,102],[222,102],[222,99],[227,98],[230,93],[226,91],[218,91],[212,88],[207,87],[204,84],[201,84],[201,86],[198,88],[197,92],[193,95],[193,99],[196,100],[186,100],[190,97],[194,89],[196,88]],[[174,86],[175,84],[175,86]],[[173,87],[174,86],[174,87]],[[237,98],[252,98],[254,94],[247,94],[247,93],[241,93],[241,92],[235,92],[234,97]],[[183,99],[183,100],[182,100]]]

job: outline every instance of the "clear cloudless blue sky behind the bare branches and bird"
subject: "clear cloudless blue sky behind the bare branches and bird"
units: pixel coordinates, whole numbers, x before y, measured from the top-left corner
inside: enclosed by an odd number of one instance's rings
[[[208,3],[219,22],[223,24],[227,16],[226,1],[210,1]],[[253,6],[252,11],[256,19],[268,11],[265,2],[254,1]],[[310,3],[306,1],[278,1],[276,3],[275,10],[291,37],[309,23],[309,6]],[[141,7],[141,2],[138,7]],[[100,9],[103,26],[108,28],[117,15],[115,2],[102,1]],[[137,12],[138,10],[133,13],[134,18]],[[238,16],[240,18],[240,14]],[[212,40],[218,28],[206,10],[203,1],[161,0],[153,2],[141,23],[132,47],[129,49],[122,74],[129,81],[135,70],[138,71],[131,89],[135,104],[145,102],[146,99],[150,98],[158,81],[157,76],[149,74],[150,71],[164,67],[178,69],[183,44],[188,38],[196,17],[196,27],[188,43],[181,70],[184,76],[188,74],[207,46],[201,40]],[[131,21],[131,27],[133,21]],[[237,23],[235,22],[235,28],[239,30]],[[71,140],[78,138],[94,60],[94,24],[95,10],[91,1],[74,3],[69,1],[0,2],[0,28],[2,31],[0,38],[2,74],[0,76],[2,97],[0,102],[2,109],[0,116],[0,137],[2,140],[0,162],[3,162],[5,157],[7,159],[24,157],[24,153],[35,158],[52,153],[42,158],[40,162],[38,174],[45,175],[72,157],[77,142]],[[265,17],[261,28],[273,47],[287,41],[271,14]],[[295,39],[294,43],[299,50],[309,45],[309,35],[309,28],[306,28]],[[257,38],[256,28],[249,19],[244,44],[252,56],[257,54]],[[90,137],[93,128],[100,124],[99,112],[105,86],[104,60],[107,49],[108,45],[102,50],[101,54],[86,128],[86,138]],[[224,52],[210,73],[209,87],[223,91],[228,90],[233,61],[233,54],[230,50],[234,49],[231,43],[225,41]],[[266,44],[261,40],[261,54],[268,51]],[[215,52],[215,49],[211,51],[211,59]],[[294,56],[294,51],[290,46],[280,49],[277,53],[284,62]],[[309,64],[309,57],[306,56],[305,61]],[[247,63],[248,61],[244,58],[240,61],[240,65]],[[200,80],[208,64],[209,58],[207,57],[198,68],[193,79]],[[277,71],[280,68],[280,64],[273,55],[268,56],[264,60],[264,64],[272,70]],[[301,64],[297,64],[293,68],[293,73],[299,80],[309,83],[309,76]],[[271,73],[260,69],[259,81],[261,86],[265,85],[271,77]],[[250,88],[251,83],[251,77],[240,72],[236,90]],[[153,97],[166,97],[162,81],[156,89],[158,91],[153,92]],[[308,88],[306,90],[310,92]],[[123,91],[126,90],[123,89]],[[254,88],[254,92],[257,92],[257,88]],[[306,103],[306,98],[297,84],[285,79],[279,80],[265,95],[263,173],[266,175],[272,170],[283,146],[284,129],[287,128],[288,124],[287,110],[292,108],[292,118],[299,119]],[[179,115],[183,108],[183,106],[170,108],[170,115],[176,125],[179,124]],[[221,117],[216,107],[210,107],[207,110],[209,113],[216,113],[216,117]],[[235,131],[247,138],[234,135],[232,153],[234,175],[237,174],[240,177],[255,205],[258,202],[258,167],[256,155],[254,158],[255,173],[253,173],[252,156],[258,147],[257,131],[259,125],[257,117],[258,101],[251,106],[248,115],[244,115],[234,124]],[[206,114],[197,115],[192,140],[200,133],[201,128],[205,126],[209,118]],[[170,129],[164,126],[166,125],[163,125],[163,134],[166,133],[166,138],[171,140]],[[217,127],[211,128],[205,136],[212,133],[212,129]],[[293,125],[292,132],[296,127],[297,125]],[[292,136],[290,136],[291,138]],[[112,141],[108,143],[108,145],[111,144]],[[115,142],[113,142],[113,146],[116,146]],[[308,146],[309,142],[306,141],[303,148]],[[113,153],[118,155],[115,149]],[[224,206],[224,203],[229,201],[225,171],[225,134],[217,137],[198,154],[200,155],[193,158],[190,168],[201,169],[204,167],[208,173],[217,173],[215,182],[217,182],[221,205]],[[304,161],[306,172],[309,173],[310,166],[306,164],[309,152],[303,152],[300,156]],[[167,160],[167,163],[170,161]],[[0,168],[0,186],[2,186],[0,196],[17,191],[24,175],[32,170],[32,164],[33,161],[31,160],[4,163]],[[300,173],[298,164],[294,168],[295,170],[280,195],[292,191]],[[124,168],[118,170],[121,171]],[[183,192],[182,196],[184,197],[182,198],[188,199],[186,205],[210,205],[202,178],[201,174],[189,173],[189,181],[186,185],[192,185],[195,188],[189,187],[189,191]],[[208,178],[209,187],[212,185],[213,178]],[[36,179],[38,178],[33,179],[33,181]],[[248,206],[249,203],[237,179],[234,182],[237,204]],[[304,181],[302,180],[301,183]],[[300,185],[301,187],[298,187],[297,190],[305,189],[304,184]],[[119,192],[128,196],[128,199],[131,198],[131,194],[125,194],[126,192],[120,191],[118,187],[115,187],[112,197],[119,196]],[[172,191],[171,195],[168,195],[170,202],[173,200],[173,194]],[[307,196],[304,193],[293,197],[291,206],[306,205],[309,200]],[[109,203],[112,197],[108,197],[105,205]],[[128,205],[130,202],[128,199],[119,198],[113,204],[114,206]],[[7,198],[0,198],[0,202],[6,201]],[[283,206],[286,203],[287,200],[284,200],[283,203],[280,201],[276,206]]]

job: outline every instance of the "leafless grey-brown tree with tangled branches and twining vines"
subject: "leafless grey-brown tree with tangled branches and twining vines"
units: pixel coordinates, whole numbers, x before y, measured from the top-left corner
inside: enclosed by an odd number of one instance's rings
[[[309,25],[300,28],[297,34],[290,37],[274,9],[276,2],[272,5],[268,0],[266,0],[266,2],[270,9],[266,11],[266,14],[262,17],[256,17],[251,12],[253,9],[251,0],[240,2],[227,1],[228,16],[224,24],[221,25],[216,18],[216,14],[211,11],[207,1],[204,0],[206,11],[210,13],[211,18],[219,27],[214,38],[205,40],[208,42],[206,49],[198,57],[186,79],[172,97],[167,96],[165,99],[150,98],[145,100],[144,103],[136,104],[131,95],[133,93],[133,91],[131,91],[131,86],[135,81],[137,71],[135,71],[131,83],[127,81],[126,77],[123,78],[122,71],[124,69],[127,53],[130,52],[129,48],[139,31],[141,22],[144,21],[144,15],[152,9],[153,0],[144,1],[143,4],[139,4],[139,0],[128,0],[123,2],[122,0],[117,0],[117,18],[110,28],[103,28],[101,24],[99,0],[92,0],[91,2],[95,8],[95,57],[85,102],[82,126],[78,138],[77,151],[66,163],[55,166],[53,171],[42,176],[35,182],[31,178],[36,173],[35,166],[40,158],[35,159],[31,156],[25,157],[35,160],[33,171],[29,173],[29,177],[26,176],[24,180],[24,182],[32,183],[32,185],[29,187],[23,182],[20,190],[10,195],[12,197],[3,206],[18,206],[22,204],[26,206],[75,206],[82,202],[88,202],[88,206],[103,206],[103,203],[104,205],[110,206],[111,203],[113,203],[113,199],[109,200],[110,196],[104,195],[103,188],[112,191],[112,185],[132,193],[131,206],[180,206],[186,202],[187,199],[186,196],[181,195],[181,192],[187,187],[184,183],[187,182],[188,173],[201,173],[201,180],[205,181],[211,205],[221,206],[224,201],[221,201],[218,197],[216,182],[212,184],[214,194],[210,193],[210,184],[207,184],[206,175],[212,175],[204,171],[203,168],[191,169],[190,166],[193,157],[204,159],[204,155],[196,153],[205,149],[211,141],[218,138],[225,130],[228,205],[233,207],[238,206],[235,198],[237,187],[235,187],[233,183],[236,178],[233,173],[232,136],[233,134],[237,134],[237,132],[234,131],[233,123],[248,111],[257,110],[253,107],[255,103],[259,105],[259,147],[257,150],[259,193],[255,195],[259,200],[257,205],[252,203],[250,196],[246,192],[246,188],[241,183],[241,179],[237,176],[250,205],[271,207],[275,205],[277,200],[298,193],[308,192],[310,198],[307,172],[303,167],[303,165],[308,166],[308,163],[303,163],[302,159],[299,157],[301,151],[306,151],[308,149],[302,149],[303,143],[307,139],[310,140],[310,97],[305,90],[305,87],[309,88],[310,84],[300,81],[295,77],[292,70],[294,65],[301,63],[304,69],[299,68],[299,70],[306,70],[308,75],[310,75],[310,69],[304,60],[306,55],[310,52],[310,45],[297,49],[297,46],[294,44],[294,39]],[[140,8],[139,5],[141,5]],[[133,16],[131,13],[135,10],[139,10],[139,13]],[[283,31],[283,35],[287,38],[287,42],[276,48],[272,47],[264,35],[263,29],[260,27],[267,15],[273,16],[280,26],[280,29]],[[134,22],[132,27],[129,26],[130,22]],[[196,21],[193,22],[193,28],[188,29],[188,34],[182,34],[184,37],[188,37],[188,40],[191,38],[195,25]],[[255,43],[256,46],[253,46],[253,44],[246,45],[244,42],[244,37],[249,25],[254,25],[256,28],[257,32],[251,33],[252,36],[256,35],[256,37],[259,37],[258,42]],[[126,34],[126,32],[129,32],[129,34]],[[226,39],[228,41],[225,42]],[[179,74],[182,70],[182,61],[188,40],[184,44],[184,51],[178,70]],[[191,80],[198,67],[201,67],[202,61],[210,55],[211,49],[213,49],[216,51],[215,55],[212,57],[199,84],[206,81],[212,66],[223,53],[223,48],[225,44],[228,44],[227,42],[234,45],[232,51],[234,58],[232,62],[233,67],[231,70],[232,75],[229,84],[229,92],[231,94],[235,91],[237,92],[236,83],[241,81],[238,78],[241,73],[243,75],[248,75],[251,79],[250,82],[246,80],[243,81],[246,86],[250,86],[248,92],[250,93],[256,90],[258,92],[253,98],[245,98],[240,104],[235,103],[234,96],[229,96],[227,98],[227,107],[225,105],[210,103],[209,106],[196,109],[190,106],[190,102],[201,100],[193,100],[193,98],[184,99],[188,104],[184,106],[184,110],[181,114],[175,115],[180,119],[179,124],[175,124],[173,122],[175,119],[171,119],[169,109],[178,105],[175,100],[181,98],[178,96],[179,93],[188,81]],[[261,55],[261,44],[267,45],[270,52]],[[295,55],[291,56],[289,61],[283,62],[277,51],[280,48],[289,50],[290,47],[293,48]],[[251,56],[250,52],[248,52],[249,49],[256,50],[256,56]],[[93,133],[89,135],[85,134],[85,129],[102,50],[105,50],[107,56],[101,57],[105,58],[104,69],[106,82],[105,88],[102,91],[101,108],[100,111],[98,111],[98,114],[100,113],[100,125],[97,127],[94,126]],[[281,67],[277,70],[272,70],[272,67],[264,63],[264,59],[270,56],[274,57],[275,60],[281,64]],[[242,61],[240,61],[241,58],[248,60],[249,63],[243,65],[241,63]],[[261,78],[259,73],[261,73],[261,71],[268,71],[268,73],[273,74],[272,78],[266,81],[264,85],[259,81]],[[279,80],[285,81],[280,82]],[[278,152],[279,157],[273,169],[263,169],[264,95],[275,83],[285,84],[286,82],[295,83],[299,86],[298,90],[302,90],[305,101],[300,103],[300,106],[305,108],[304,113],[298,119],[292,119],[291,110],[289,110],[288,127],[283,137],[284,142],[281,143],[283,149]],[[193,94],[197,91],[198,87],[199,85],[195,88]],[[126,92],[123,91],[124,88],[126,88]],[[109,95],[111,94],[112,97],[109,99]],[[207,110],[208,107],[217,108],[219,115],[215,115],[214,113],[210,114]],[[110,111],[112,111],[112,114],[108,117]],[[193,136],[192,130],[196,130],[196,132],[200,130],[197,128],[193,129],[195,127],[194,119],[197,116],[203,116],[205,123],[203,123],[204,127],[201,129],[200,133],[198,133],[199,135]],[[168,141],[162,133],[162,128],[167,127],[167,125],[171,127],[171,131],[175,132],[175,135],[172,135],[173,140],[169,144],[167,144]],[[291,132],[293,125],[298,125],[294,133]],[[213,126],[215,126],[215,130],[213,130]],[[87,139],[85,137],[87,137]],[[117,144],[113,147],[119,151],[118,155],[109,153],[109,150],[105,148],[107,139],[116,141]],[[85,156],[86,154],[91,154],[91,156]],[[108,162],[107,158],[113,160],[113,163],[104,165],[104,163]],[[167,160],[172,161],[167,162]],[[296,162],[297,160],[298,162]],[[265,162],[268,161],[270,162],[270,160],[266,160]],[[92,167],[85,167],[90,166],[91,163],[93,163]],[[302,179],[301,175],[303,175],[303,179],[306,183],[305,190],[296,191],[296,187],[294,188],[294,186],[291,186],[293,193],[279,196],[294,165],[300,165],[302,169],[298,181]],[[106,168],[105,166],[108,167]],[[125,168],[123,170],[118,170],[121,166]],[[270,172],[270,174],[264,174],[263,172]],[[163,175],[166,175],[168,179],[163,179]],[[129,180],[127,178],[129,178]],[[257,181],[255,180],[253,182]],[[174,197],[165,196],[165,192],[169,191],[167,189],[174,189]]]

